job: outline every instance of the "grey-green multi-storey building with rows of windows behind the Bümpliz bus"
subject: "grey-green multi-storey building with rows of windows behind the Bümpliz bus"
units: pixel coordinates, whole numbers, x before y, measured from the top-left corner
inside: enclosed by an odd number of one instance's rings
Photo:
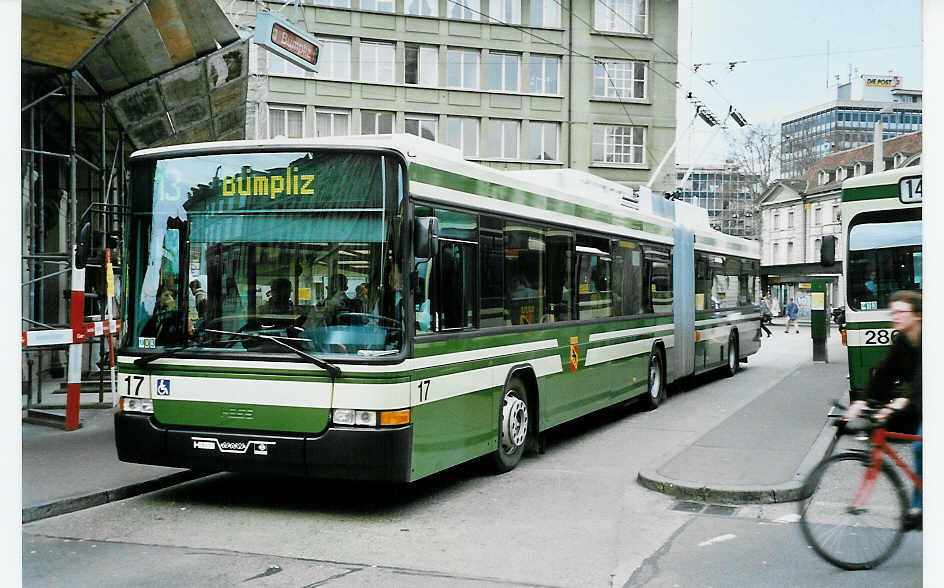
[[[250,34],[263,5],[224,8]],[[253,45],[247,137],[406,132],[632,187],[675,137],[675,0],[308,0],[297,24],[322,43],[319,71]],[[655,189],[673,185],[664,169]]]

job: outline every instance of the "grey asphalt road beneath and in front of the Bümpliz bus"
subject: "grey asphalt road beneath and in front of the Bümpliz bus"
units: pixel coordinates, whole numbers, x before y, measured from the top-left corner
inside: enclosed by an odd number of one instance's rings
[[[636,483],[809,361],[808,337],[771,341],[735,378],[561,427],[501,476],[480,463],[409,486],[219,474],[30,523],[23,583],[920,585],[920,534],[882,568],[843,573],[806,546],[795,505],[689,512]]]

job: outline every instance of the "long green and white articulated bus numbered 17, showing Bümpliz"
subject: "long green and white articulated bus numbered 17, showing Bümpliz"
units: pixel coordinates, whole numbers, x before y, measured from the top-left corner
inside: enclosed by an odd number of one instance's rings
[[[760,346],[704,210],[410,135],[136,152],[123,461],[413,481]]]

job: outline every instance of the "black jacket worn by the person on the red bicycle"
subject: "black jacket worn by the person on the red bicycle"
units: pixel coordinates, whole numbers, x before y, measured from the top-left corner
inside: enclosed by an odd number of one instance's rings
[[[888,428],[911,433],[921,423],[921,342],[912,345],[903,334],[892,341],[860,399],[885,404],[901,397],[908,399],[908,406],[889,418]]]

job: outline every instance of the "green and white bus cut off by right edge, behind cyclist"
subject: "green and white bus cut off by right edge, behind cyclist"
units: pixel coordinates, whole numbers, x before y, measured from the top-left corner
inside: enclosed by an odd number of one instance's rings
[[[888,301],[898,290],[921,290],[921,166],[903,167],[842,184],[846,248],[846,345],[853,398],[897,332]]]

